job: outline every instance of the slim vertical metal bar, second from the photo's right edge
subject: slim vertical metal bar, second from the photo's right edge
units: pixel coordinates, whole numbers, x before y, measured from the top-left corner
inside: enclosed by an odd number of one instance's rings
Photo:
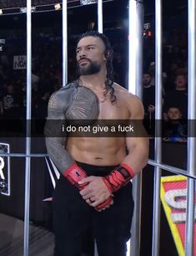
[[[162,118],[162,1],[155,1],[155,120]],[[161,122],[155,127],[155,161],[161,163],[162,156],[162,138],[158,136],[161,131]],[[161,169],[154,168],[154,188],[153,188],[153,244],[152,255],[159,255],[160,243],[160,177]]]

